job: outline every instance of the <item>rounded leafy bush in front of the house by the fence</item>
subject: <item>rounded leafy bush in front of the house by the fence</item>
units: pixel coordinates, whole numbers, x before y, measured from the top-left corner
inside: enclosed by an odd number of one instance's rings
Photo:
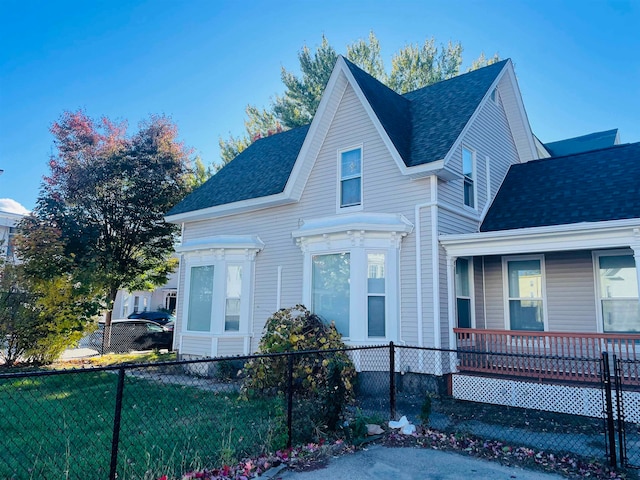
[[[296,305],[279,310],[267,320],[258,354],[343,348],[346,345],[333,323],[327,324],[304,306]],[[244,393],[285,393],[287,361],[287,356],[276,356],[247,362]],[[296,432],[313,438],[325,430],[336,430],[354,395],[356,372],[349,356],[345,352],[295,355],[292,371],[294,404],[298,410],[294,415]]]

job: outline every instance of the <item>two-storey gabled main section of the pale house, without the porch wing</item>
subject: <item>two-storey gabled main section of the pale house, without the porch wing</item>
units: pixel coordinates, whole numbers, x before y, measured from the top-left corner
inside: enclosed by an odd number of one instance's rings
[[[340,57],[309,126],[256,141],[167,214],[183,228],[176,348],[253,352],[297,303],[352,345],[454,345],[439,237],[477,232],[541,148],[510,60],[398,95]]]

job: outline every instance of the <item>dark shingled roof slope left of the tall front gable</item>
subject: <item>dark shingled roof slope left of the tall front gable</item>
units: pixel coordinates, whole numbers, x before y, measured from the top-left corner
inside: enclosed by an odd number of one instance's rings
[[[167,216],[281,193],[308,130],[305,125],[255,141]]]

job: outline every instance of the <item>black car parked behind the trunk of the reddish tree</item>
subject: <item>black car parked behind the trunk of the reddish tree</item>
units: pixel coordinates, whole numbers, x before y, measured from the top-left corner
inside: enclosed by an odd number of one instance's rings
[[[104,336],[104,322],[98,323],[98,330],[89,337],[91,348],[104,352],[130,352],[132,350],[152,350],[173,346],[173,323],[168,326],[159,325],[150,320],[140,318],[118,319],[111,321],[111,340]]]

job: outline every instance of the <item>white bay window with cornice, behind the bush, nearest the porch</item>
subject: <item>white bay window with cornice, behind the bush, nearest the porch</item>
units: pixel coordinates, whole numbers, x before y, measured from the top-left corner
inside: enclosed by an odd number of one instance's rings
[[[391,213],[304,219],[292,232],[304,253],[302,303],[352,345],[397,341],[400,243],[412,228]]]

